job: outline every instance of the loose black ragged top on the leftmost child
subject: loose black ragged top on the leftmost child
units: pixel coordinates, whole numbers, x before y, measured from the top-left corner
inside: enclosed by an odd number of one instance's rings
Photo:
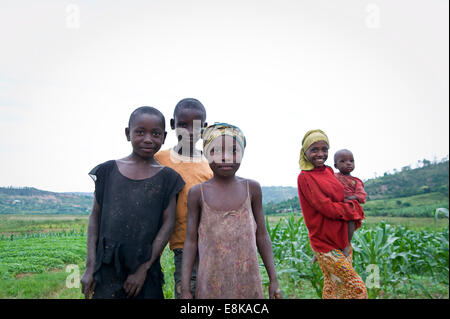
[[[94,278],[102,264],[113,264],[116,275],[125,280],[152,255],[152,244],[162,225],[162,213],[185,183],[169,167],[150,178],[133,180],[108,161],[89,172],[95,181],[95,198],[100,206]],[[150,278],[149,278],[150,277]],[[159,258],[147,274],[146,284],[162,285]]]

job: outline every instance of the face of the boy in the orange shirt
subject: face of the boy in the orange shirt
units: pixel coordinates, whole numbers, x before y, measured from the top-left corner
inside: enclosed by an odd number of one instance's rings
[[[184,145],[197,143],[201,137],[202,127],[206,126],[203,117],[204,114],[200,110],[181,109],[170,123],[175,130],[178,142]]]

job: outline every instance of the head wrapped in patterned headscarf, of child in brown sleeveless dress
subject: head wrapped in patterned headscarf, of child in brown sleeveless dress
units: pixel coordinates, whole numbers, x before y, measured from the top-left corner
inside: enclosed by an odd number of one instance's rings
[[[215,174],[231,176],[239,169],[246,147],[242,131],[231,124],[215,123],[203,134],[203,154]]]

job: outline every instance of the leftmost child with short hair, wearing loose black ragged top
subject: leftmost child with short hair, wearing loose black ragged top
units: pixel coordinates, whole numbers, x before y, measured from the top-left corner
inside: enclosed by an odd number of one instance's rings
[[[133,152],[96,166],[89,217],[86,298],[164,298],[160,255],[175,223],[176,194],[184,181],[154,154],[164,143],[165,118],[141,107],[125,129]]]

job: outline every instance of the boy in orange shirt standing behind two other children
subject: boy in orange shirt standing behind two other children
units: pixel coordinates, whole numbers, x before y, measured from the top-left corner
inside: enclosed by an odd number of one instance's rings
[[[176,220],[173,234],[170,238],[170,249],[174,253],[175,263],[175,298],[181,295],[181,265],[184,240],[186,238],[187,197],[189,189],[213,177],[208,161],[202,151],[195,148],[201,138],[201,130],[206,127],[206,110],[200,101],[186,98],[178,102],[170,120],[170,127],[175,130],[178,144],[173,148],[156,153],[156,160],[168,166],[181,175],[186,185],[178,194]],[[196,289],[196,267],[192,271],[191,292]]]

